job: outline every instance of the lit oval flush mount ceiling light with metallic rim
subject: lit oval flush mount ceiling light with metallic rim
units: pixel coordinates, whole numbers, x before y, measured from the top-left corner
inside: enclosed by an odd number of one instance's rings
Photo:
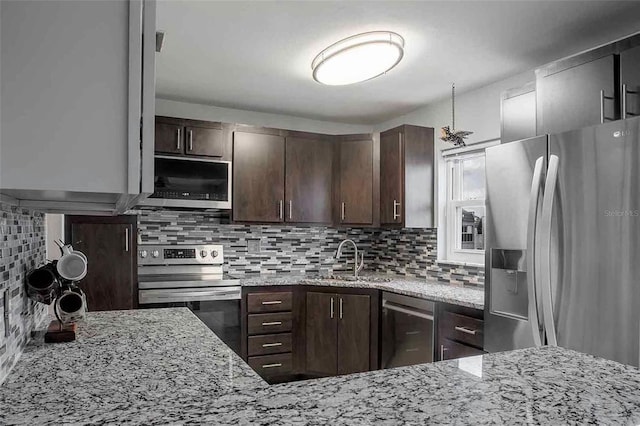
[[[400,62],[404,39],[391,31],[372,31],[340,40],[311,63],[313,79],[330,86],[359,83],[378,77]]]

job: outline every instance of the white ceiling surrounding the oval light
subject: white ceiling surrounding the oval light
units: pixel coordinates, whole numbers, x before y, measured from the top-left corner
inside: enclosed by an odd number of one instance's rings
[[[321,120],[375,124],[640,31],[640,2],[158,2],[157,96]],[[372,30],[405,38],[388,74],[322,86],[311,61]]]

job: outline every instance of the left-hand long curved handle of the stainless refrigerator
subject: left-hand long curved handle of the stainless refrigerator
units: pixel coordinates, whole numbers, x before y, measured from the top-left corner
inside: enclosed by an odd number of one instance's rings
[[[542,169],[544,167],[544,158],[540,157],[536,160],[533,169],[533,179],[531,181],[531,193],[529,195],[529,218],[527,224],[527,293],[529,296],[529,324],[533,333],[533,342],[538,346],[542,346],[540,337],[540,319],[538,317],[538,301],[536,299],[536,283],[538,282],[538,268],[536,265],[536,228],[537,216],[540,199],[540,191],[542,190]]]

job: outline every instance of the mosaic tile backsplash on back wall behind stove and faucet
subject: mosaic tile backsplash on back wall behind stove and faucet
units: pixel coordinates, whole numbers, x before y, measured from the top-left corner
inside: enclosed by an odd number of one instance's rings
[[[224,246],[225,272],[331,274],[353,269],[351,238],[365,251],[365,270],[432,277],[447,284],[482,286],[483,268],[436,263],[436,229],[332,228],[326,226],[231,225],[202,212],[150,211],[138,214],[142,243]]]

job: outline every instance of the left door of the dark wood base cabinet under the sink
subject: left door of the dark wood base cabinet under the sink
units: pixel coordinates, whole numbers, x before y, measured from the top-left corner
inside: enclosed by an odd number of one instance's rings
[[[335,375],[338,371],[337,296],[307,292],[307,371]],[[367,352],[368,354],[368,352]]]

